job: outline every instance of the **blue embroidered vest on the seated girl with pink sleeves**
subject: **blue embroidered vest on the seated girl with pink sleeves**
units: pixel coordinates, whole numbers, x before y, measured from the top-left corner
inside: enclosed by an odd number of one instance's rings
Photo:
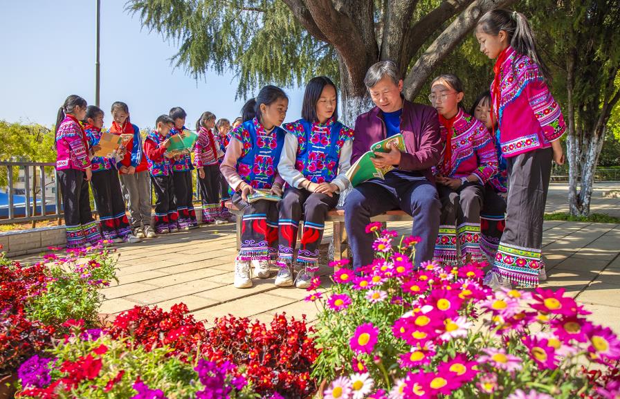
[[[237,159],[237,173],[254,188],[271,188],[286,132],[274,127],[267,133],[256,118],[240,124],[231,136],[243,144]]]

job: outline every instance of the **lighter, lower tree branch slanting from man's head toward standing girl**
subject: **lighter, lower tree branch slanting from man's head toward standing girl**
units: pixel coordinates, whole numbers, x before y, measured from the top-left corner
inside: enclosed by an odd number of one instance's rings
[[[412,100],[422,89],[433,69],[442,62],[470,32],[485,12],[508,6],[516,0],[475,0],[444,30],[412,66],[405,77],[405,98]]]

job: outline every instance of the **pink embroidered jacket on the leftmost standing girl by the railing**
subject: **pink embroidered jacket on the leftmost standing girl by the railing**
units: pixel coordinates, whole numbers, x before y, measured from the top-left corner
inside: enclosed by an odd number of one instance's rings
[[[66,115],[56,132],[56,170],[84,170],[91,166],[86,133],[77,119]]]

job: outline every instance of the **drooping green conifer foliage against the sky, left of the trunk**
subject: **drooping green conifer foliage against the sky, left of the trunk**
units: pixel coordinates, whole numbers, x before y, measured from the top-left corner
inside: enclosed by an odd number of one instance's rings
[[[339,76],[334,48],[311,37],[282,1],[129,0],[127,10],[179,43],[172,62],[194,77],[233,71],[239,97],[267,83]]]

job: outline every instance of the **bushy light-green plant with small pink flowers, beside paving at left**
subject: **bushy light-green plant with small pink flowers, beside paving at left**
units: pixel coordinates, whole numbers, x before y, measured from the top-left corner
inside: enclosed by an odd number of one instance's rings
[[[46,290],[26,307],[31,320],[60,326],[68,319],[83,319],[87,326],[98,324],[98,310],[104,299],[100,288],[116,279],[117,257],[103,248],[88,254],[68,254],[49,264],[51,277]]]

